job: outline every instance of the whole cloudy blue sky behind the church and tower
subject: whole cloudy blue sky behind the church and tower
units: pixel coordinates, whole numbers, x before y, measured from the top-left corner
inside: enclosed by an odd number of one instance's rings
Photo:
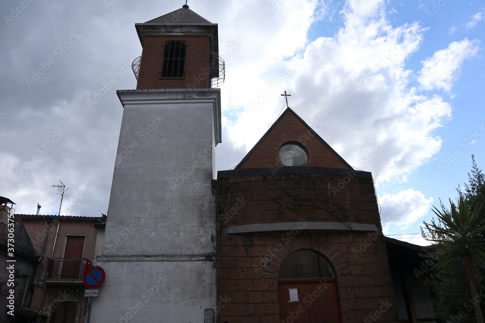
[[[0,195],[17,214],[107,214],[123,108],[141,55],[134,24],[184,1],[0,3]],[[285,107],[372,172],[385,235],[419,233],[439,199],[485,167],[485,3],[188,0],[219,27],[226,63],[216,170],[231,169]],[[109,214],[108,214],[109,215]]]

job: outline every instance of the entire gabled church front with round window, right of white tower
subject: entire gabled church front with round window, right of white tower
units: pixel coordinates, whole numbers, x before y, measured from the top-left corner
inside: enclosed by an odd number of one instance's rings
[[[283,166],[288,143],[305,149],[305,166]],[[293,111],[235,170],[219,171],[217,200],[218,322],[397,322],[372,175]],[[306,274],[318,264],[291,256],[303,250],[328,271]],[[281,272],[289,257],[294,277]]]

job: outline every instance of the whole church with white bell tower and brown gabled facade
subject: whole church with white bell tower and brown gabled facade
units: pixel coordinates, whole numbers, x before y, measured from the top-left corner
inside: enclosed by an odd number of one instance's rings
[[[397,323],[371,173],[287,108],[216,174],[217,24],[184,5],[135,27],[91,322]]]

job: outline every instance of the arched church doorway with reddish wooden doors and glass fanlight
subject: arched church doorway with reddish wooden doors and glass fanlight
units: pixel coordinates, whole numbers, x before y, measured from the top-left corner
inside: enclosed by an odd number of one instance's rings
[[[337,282],[330,263],[313,250],[288,255],[278,271],[282,323],[340,323]]]

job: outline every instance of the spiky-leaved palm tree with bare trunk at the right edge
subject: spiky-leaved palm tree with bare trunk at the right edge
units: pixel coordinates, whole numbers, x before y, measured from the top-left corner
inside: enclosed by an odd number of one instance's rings
[[[471,300],[475,309],[477,323],[484,323],[480,308],[480,277],[477,264],[485,268],[485,239],[482,234],[485,232],[485,219],[477,221],[478,215],[484,204],[470,212],[463,198],[460,197],[458,207],[450,200],[451,209],[443,212],[435,209],[433,212],[438,217],[438,224],[424,222],[424,228],[429,231],[426,236],[421,229],[423,236],[431,242],[440,243],[440,250],[432,252],[440,256],[440,260],[433,266],[443,273],[449,272],[454,266],[463,262],[465,265],[465,276],[469,283]]]

